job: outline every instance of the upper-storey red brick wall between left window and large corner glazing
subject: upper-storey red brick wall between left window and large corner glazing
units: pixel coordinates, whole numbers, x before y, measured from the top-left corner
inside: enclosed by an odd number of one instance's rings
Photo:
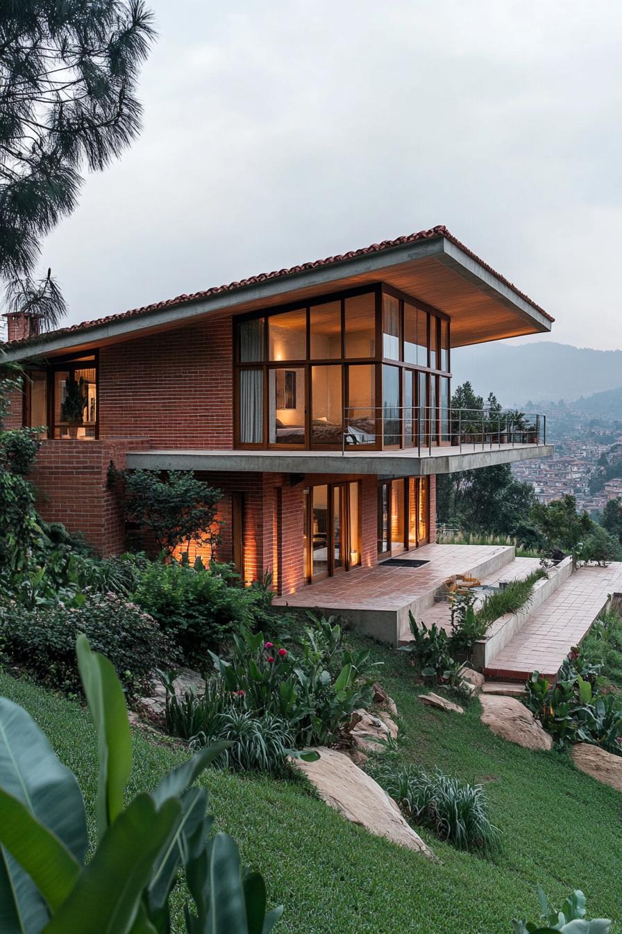
[[[100,438],[152,447],[233,447],[231,318],[100,350]]]

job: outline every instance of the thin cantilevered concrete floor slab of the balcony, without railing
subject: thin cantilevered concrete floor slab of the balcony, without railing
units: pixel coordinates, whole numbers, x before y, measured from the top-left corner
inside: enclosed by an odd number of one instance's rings
[[[515,460],[545,458],[552,445],[463,445],[433,447],[419,454],[417,448],[399,451],[130,451],[131,470],[195,470],[232,473],[278,474],[378,474],[380,476],[427,476],[476,470]]]

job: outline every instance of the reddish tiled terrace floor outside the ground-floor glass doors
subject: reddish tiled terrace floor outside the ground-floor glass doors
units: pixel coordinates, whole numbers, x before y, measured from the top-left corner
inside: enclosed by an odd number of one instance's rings
[[[355,568],[337,577],[327,577],[310,587],[301,587],[296,593],[276,597],[273,605],[324,606],[334,610],[399,610],[441,587],[451,574],[468,573],[509,550],[507,545],[422,545],[399,556],[400,559],[430,562],[421,568],[383,563],[372,568]],[[503,573],[500,574],[503,577]]]

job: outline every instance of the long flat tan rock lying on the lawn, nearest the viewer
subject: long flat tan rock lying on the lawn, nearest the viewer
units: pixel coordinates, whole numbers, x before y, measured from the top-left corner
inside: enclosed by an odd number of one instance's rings
[[[354,765],[352,759],[336,749],[322,746],[316,762],[292,759],[292,765],[304,772],[320,798],[335,808],[346,820],[366,828],[378,837],[386,837],[409,850],[434,858],[422,838],[407,823],[394,800],[377,782]]]

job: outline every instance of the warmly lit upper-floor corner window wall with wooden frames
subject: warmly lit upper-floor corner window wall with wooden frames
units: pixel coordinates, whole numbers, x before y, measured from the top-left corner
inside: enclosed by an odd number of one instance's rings
[[[380,285],[242,318],[236,371],[236,446],[449,442],[449,319]]]

